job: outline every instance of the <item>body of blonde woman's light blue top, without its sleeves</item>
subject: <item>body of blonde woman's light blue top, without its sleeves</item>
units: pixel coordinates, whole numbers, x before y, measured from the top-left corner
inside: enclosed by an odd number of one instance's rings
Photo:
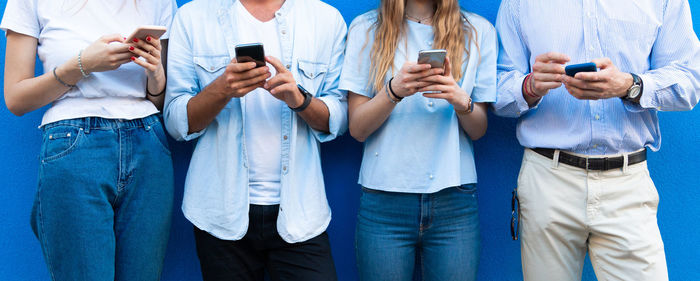
[[[477,29],[474,40],[478,40],[477,34],[487,22],[476,15],[465,14]],[[374,16],[368,15],[364,16],[371,22]],[[395,70],[393,73],[389,70],[386,82],[405,62],[417,61],[419,51],[434,48],[432,26],[413,21],[405,24],[406,37],[399,42],[394,56]],[[374,31],[369,32],[367,49],[374,43]],[[458,83],[467,93],[474,87],[479,64],[476,44],[469,46],[469,50],[470,55],[465,54],[467,59],[457,70],[463,73]],[[380,94],[386,93],[375,93]],[[421,92],[404,98],[365,141],[359,182],[373,189],[412,193],[431,193],[475,183],[472,143],[460,127],[452,105],[444,99],[424,97]]]

